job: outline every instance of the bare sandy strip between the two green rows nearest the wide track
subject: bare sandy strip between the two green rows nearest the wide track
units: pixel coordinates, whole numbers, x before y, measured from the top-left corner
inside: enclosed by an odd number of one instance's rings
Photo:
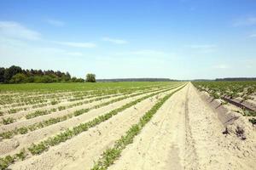
[[[173,90],[145,99],[120,112],[106,122],[90,128],[65,143],[51,147],[40,156],[32,156],[11,166],[12,169],[90,169],[103,150],[119,139],[131,125],[137,123],[157,100]]]

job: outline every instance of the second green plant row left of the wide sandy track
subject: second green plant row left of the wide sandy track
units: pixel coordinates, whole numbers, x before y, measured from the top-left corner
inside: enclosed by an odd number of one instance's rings
[[[178,88],[178,89],[180,89],[180,88]],[[125,111],[125,109],[130,108],[132,105],[136,105],[137,103],[141,102],[144,99],[148,99],[154,95],[163,93],[168,90],[170,90],[170,89],[166,89],[164,91],[156,92],[153,94],[148,94],[140,99],[131,101],[130,103],[125,104],[113,111],[109,111],[108,113],[106,113],[102,116],[97,116],[90,122],[81,123],[76,127],[67,129],[65,132],[56,134],[54,137],[49,137],[48,139],[41,141],[39,144],[32,144],[30,147],[27,148],[27,150],[22,149],[18,154],[15,154],[14,156],[5,156],[3,158],[0,158],[0,167],[1,167],[1,169],[6,169],[9,167],[10,164],[14,163],[15,161],[19,161],[20,159],[19,159],[19,156],[17,156],[17,155],[21,155],[22,160],[24,160],[27,158],[29,153],[31,153],[32,155],[41,154],[45,150],[48,150],[50,146],[54,146],[56,144],[60,144],[61,142],[65,142],[65,141],[67,141],[67,139],[71,139],[74,136],[78,135],[79,133],[83,133],[83,132],[87,131],[89,128],[95,127],[96,125],[100,124],[101,122],[107,121],[112,116],[117,115],[121,111]]]

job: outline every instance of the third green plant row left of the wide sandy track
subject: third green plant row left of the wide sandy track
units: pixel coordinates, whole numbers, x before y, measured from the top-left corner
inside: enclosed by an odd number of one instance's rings
[[[170,89],[172,89],[172,88],[167,88],[164,91],[167,91],[167,90],[170,90]],[[152,93],[154,91],[158,91],[158,90],[148,91],[147,93]],[[160,92],[164,92],[164,91],[160,91]],[[145,94],[145,92],[138,93],[138,94],[131,94],[130,97],[135,97],[135,96],[141,95],[141,94]],[[123,99],[127,99],[127,96],[119,97],[117,99],[112,99],[112,100],[104,102],[102,104],[94,105],[94,106],[92,106],[90,108],[74,111],[73,113],[69,113],[69,114],[67,114],[65,116],[49,118],[48,120],[45,120],[45,121],[42,121],[42,122],[36,122],[36,123],[33,123],[32,125],[29,125],[27,127],[15,128],[14,130],[10,130],[10,131],[7,131],[7,132],[0,133],[0,136],[3,139],[10,139],[10,138],[13,138],[17,134],[25,134],[25,133],[28,133],[30,131],[35,131],[35,130],[37,130],[39,128],[48,127],[48,126],[53,125],[55,123],[66,121],[67,119],[70,119],[73,116],[82,115],[82,114],[84,114],[84,113],[86,113],[88,111],[91,111],[93,109],[98,109],[98,108],[100,108],[102,106],[109,105],[109,104],[112,104],[114,102],[118,102],[118,101],[123,100]]]

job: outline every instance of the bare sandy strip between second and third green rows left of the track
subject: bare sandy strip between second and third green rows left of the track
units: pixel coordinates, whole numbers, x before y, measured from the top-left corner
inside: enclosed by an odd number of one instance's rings
[[[148,93],[148,94],[151,94],[151,93]],[[28,132],[23,135],[19,134],[12,139],[4,139],[3,141],[0,142],[0,145],[1,145],[0,155],[2,156],[6,154],[14,154],[17,151],[21,150],[22,148],[32,143],[36,143],[39,140],[48,138],[49,136],[54,135],[55,133],[60,133],[61,131],[67,128],[77,126],[79,123],[88,122],[93,118],[95,118],[96,116],[105,114],[107,111],[112,111],[113,109],[116,109],[121,105],[125,105],[131,102],[132,100],[139,99],[148,94],[141,94],[141,95],[130,97],[130,98],[129,98],[129,95],[127,95],[127,99],[123,99],[111,105],[106,105],[101,108],[89,111],[86,114],[83,114],[81,116],[74,116],[73,118],[68,119],[67,121],[55,123],[49,127],[40,128],[36,131]],[[111,99],[114,99],[114,98],[111,98]],[[107,100],[111,100],[111,99],[107,99]],[[90,105],[96,105],[99,102],[100,101],[97,101]]]

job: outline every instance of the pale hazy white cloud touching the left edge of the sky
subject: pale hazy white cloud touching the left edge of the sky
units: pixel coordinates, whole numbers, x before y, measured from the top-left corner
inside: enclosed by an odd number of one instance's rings
[[[0,21],[0,36],[15,39],[38,40],[40,33],[32,31],[18,22]]]

